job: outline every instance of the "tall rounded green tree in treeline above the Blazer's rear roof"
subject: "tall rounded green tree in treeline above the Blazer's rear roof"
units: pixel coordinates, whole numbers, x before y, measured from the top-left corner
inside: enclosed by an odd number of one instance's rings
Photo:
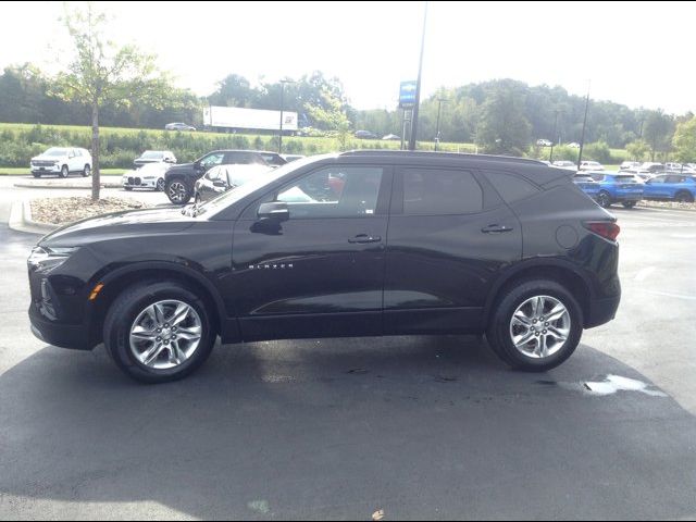
[[[522,156],[530,146],[530,130],[522,95],[502,84],[483,103],[476,144],[487,153]]]

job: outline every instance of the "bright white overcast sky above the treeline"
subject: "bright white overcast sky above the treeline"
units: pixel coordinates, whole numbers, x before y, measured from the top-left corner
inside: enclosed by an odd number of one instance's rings
[[[79,3],[79,2],[72,2]],[[424,2],[95,2],[120,44],[154,52],[178,85],[208,95],[229,73],[252,83],[314,70],[359,109],[394,108],[414,79]],[[1,2],[0,67],[60,61],[62,2]],[[510,77],[592,98],[696,112],[692,2],[437,2],[423,91]]]

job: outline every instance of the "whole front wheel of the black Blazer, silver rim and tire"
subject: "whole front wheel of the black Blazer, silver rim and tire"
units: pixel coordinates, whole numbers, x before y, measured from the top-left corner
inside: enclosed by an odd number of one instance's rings
[[[216,333],[204,301],[172,282],[146,282],[116,298],[104,345],[128,376],[144,383],[183,378],[210,356]]]

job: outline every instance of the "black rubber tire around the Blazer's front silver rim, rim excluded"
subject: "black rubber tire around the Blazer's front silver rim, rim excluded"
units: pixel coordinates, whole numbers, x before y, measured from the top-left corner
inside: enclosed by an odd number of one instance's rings
[[[136,359],[129,344],[130,326],[147,307],[167,299],[182,301],[196,310],[201,322],[201,338],[185,362],[158,370]],[[173,281],[142,282],[125,289],[111,304],[103,326],[104,346],[119,368],[136,381],[148,384],[177,381],[195,372],[210,356],[216,338],[212,324],[206,302],[191,289]]]

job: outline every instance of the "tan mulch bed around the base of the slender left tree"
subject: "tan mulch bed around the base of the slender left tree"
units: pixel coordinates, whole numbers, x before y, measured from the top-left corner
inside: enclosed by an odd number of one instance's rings
[[[147,209],[150,204],[130,198],[103,198],[92,201],[89,197],[42,198],[32,200],[32,219],[40,223],[61,225],[108,212]]]

